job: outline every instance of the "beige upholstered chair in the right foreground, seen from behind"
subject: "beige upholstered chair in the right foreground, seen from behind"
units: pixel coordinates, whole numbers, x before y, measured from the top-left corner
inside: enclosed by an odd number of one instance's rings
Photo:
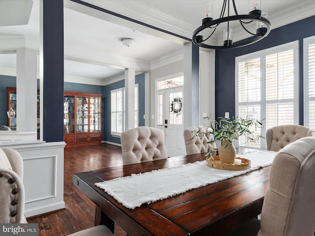
[[[228,236],[313,236],[314,170],[315,137],[282,148],[271,166],[260,222],[253,219]]]

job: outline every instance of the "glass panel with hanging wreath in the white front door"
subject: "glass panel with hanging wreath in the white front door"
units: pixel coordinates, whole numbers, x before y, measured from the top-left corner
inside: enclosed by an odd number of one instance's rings
[[[183,124],[183,92],[169,94],[169,123]]]

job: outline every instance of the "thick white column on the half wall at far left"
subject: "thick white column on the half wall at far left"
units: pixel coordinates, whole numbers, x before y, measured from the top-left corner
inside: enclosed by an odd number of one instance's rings
[[[37,132],[37,51],[17,49],[16,58],[16,128],[19,132]]]

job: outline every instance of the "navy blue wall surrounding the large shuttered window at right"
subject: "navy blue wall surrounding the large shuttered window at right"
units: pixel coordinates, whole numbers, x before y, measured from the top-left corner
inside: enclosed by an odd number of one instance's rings
[[[272,22],[271,22],[272,24]],[[235,116],[235,58],[299,40],[299,123],[303,125],[303,38],[315,35],[315,16],[273,29],[252,45],[216,51],[216,117]]]

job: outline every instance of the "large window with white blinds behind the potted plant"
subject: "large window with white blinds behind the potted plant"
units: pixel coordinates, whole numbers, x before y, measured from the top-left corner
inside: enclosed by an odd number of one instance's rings
[[[236,58],[236,114],[264,119],[260,132],[283,124],[298,124],[298,42]],[[253,136],[253,138],[256,138]],[[238,145],[266,148],[264,139]]]

